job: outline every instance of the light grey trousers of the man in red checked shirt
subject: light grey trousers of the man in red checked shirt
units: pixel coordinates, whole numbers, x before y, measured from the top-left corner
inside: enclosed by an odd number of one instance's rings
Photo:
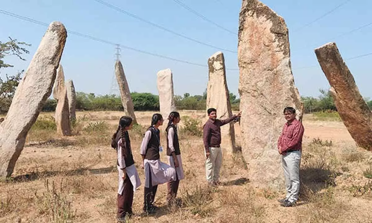
[[[288,152],[282,156],[285,185],[287,189],[286,199],[289,202],[298,200],[300,190],[300,163],[301,151]]]

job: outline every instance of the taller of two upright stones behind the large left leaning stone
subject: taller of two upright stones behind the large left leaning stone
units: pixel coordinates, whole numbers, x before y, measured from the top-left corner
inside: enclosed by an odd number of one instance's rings
[[[65,86],[65,75],[62,65],[57,69],[55,78],[53,97],[57,100],[55,108],[55,124],[57,125],[57,134],[71,135],[70,111],[68,109],[67,88]]]

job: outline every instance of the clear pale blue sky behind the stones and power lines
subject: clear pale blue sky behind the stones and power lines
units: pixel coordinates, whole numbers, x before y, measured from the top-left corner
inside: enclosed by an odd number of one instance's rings
[[[175,32],[221,48],[237,50],[237,36],[226,32],[182,8],[173,0],[138,1],[104,0],[130,13],[150,20]],[[192,9],[219,25],[237,32],[240,0],[181,0]],[[318,96],[319,88],[329,88],[321,71],[314,48],[335,41],[344,59],[372,52],[372,25],[335,38],[372,22],[372,1],[351,0],[311,25],[345,0],[263,0],[282,16],[289,28],[291,61],[295,84],[302,96]],[[140,50],[166,55],[198,64],[207,64],[209,56],[219,51],[180,38],[171,33],[119,13],[94,0],[12,0],[0,6],[15,14],[50,23],[64,23],[67,29]],[[31,43],[27,61],[5,58],[14,69],[1,70],[2,77],[26,69],[46,27],[0,14],[1,41],[8,36]],[[77,91],[110,93],[115,46],[68,34],[61,63],[65,78],[74,81]],[[237,68],[237,55],[224,52],[228,68]],[[202,94],[208,81],[206,67],[183,64],[151,55],[122,49],[121,61],[131,91],[157,94],[156,73],[173,71],[175,94]],[[363,97],[372,98],[372,55],[346,61]],[[315,67],[311,67],[314,66]],[[310,67],[310,68],[302,68]],[[302,69],[301,69],[302,68]],[[227,71],[228,88],[238,94],[238,71]]]

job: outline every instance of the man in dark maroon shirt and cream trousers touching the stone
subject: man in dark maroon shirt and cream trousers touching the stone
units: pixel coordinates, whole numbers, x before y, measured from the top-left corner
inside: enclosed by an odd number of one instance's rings
[[[217,119],[217,110],[210,108],[207,110],[209,119],[203,126],[203,143],[205,148],[205,175],[209,185],[219,184],[219,170],[222,165],[221,151],[221,126],[238,120],[240,112],[228,119]]]

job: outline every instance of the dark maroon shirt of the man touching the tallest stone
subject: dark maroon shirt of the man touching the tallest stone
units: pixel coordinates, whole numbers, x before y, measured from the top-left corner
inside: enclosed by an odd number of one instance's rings
[[[205,151],[209,151],[209,147],[219,147],[221,144],[221,126],[234,120],[237,116],[231,116],[230,118],[223,120],[212,120],[208,121],[203,126],[203,143]]]

